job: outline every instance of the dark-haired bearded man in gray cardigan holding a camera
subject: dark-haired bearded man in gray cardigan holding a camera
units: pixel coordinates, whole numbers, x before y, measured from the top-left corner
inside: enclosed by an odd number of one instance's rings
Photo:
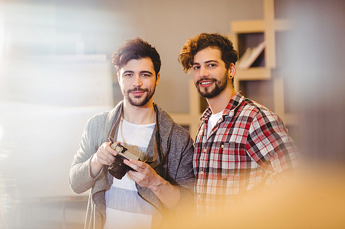
[[[88,120],[70,169],[75,193],[91,188],[85,228],[172,226],[193,208],[193,140],[152,100],[161,67],[155,47],[126,41],[112,63],[124,100]],[[119,157],[118,144],[134,157]],[[115,158],[131,168],[124,177],[108,172]]]

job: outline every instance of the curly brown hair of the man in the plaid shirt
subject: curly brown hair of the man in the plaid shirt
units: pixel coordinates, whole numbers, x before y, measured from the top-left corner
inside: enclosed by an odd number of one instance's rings
[[[195,54],[206,47],[213,47],[221,52],[221,60],[224,61],[226,69],[229,69],[231,63],[235,65],[238,56],[233,42],[221,34],[202,33],[188,39],[182,47],[179,63],[184,67],[184,72],[192,68]]]

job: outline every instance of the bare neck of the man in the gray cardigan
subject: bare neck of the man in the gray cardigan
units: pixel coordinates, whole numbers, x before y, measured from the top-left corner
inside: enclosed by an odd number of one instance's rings
[[[124,100],[124,116],[122,117],[132,124],[150,124],[156,121],[155,109],[150,100],[143,107],[135,107]]]

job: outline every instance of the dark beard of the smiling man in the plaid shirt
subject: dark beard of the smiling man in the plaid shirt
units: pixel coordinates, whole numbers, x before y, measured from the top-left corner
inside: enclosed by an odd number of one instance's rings
[[[215,87],[213,89],[209,89],[208,87],[202,87],[204,90],[201,91],[200,82],[202,80],[211,80],[214,82]],[[195,83],[195,87],[197,87],[197,92],[199,92],[199,95],[204,98],[214,98],[215,96],[218,96],[221,91],[223,91],[226,86],[228,85],[228,74],[227,72],[224,74],[224,76],[217,80],[215,78],[201,78],[197,80]]]

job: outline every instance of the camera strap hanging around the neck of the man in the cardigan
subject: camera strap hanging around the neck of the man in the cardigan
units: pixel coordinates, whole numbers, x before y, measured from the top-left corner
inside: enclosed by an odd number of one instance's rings
[[[151,164],[152,162],[155,162],[157,160],[158,156],[159,156],[159,160],[161,160],[161,151],[162,151],[161,150],[161,138],[159,135],[158,112],[157,112],[156,107],[155,107],[155,112],[156,112],[155,147],[154,147],[155,155],[153,156],[152,160],[145,161],[147,164]],[[115,120],[115,123],[112,126],[112,129],[110,131],[110,135],[108,137],[108,141],[109,141],[110,145],[115,142],[115,140],[114,140],[115,133],[119,129],[119,124],[121,122],[121,117],[122,117],[123,113],[124,113],[124,104],[121,104],[119,117],[117,117],[117,120]]]

